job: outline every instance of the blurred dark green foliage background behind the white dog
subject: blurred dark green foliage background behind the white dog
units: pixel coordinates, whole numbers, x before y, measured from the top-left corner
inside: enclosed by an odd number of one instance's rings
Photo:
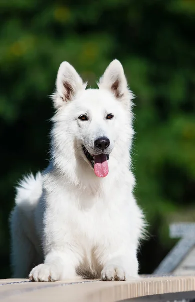
[[[175,244],[169,223],[195,221],[195,2],[1,0],[0,12],[0,278],[10,277],[14,185],[48,163],[60,63],[95,86],[114,58],[137,96],[135,195],[150,225],[139,258],[151,273]]]

